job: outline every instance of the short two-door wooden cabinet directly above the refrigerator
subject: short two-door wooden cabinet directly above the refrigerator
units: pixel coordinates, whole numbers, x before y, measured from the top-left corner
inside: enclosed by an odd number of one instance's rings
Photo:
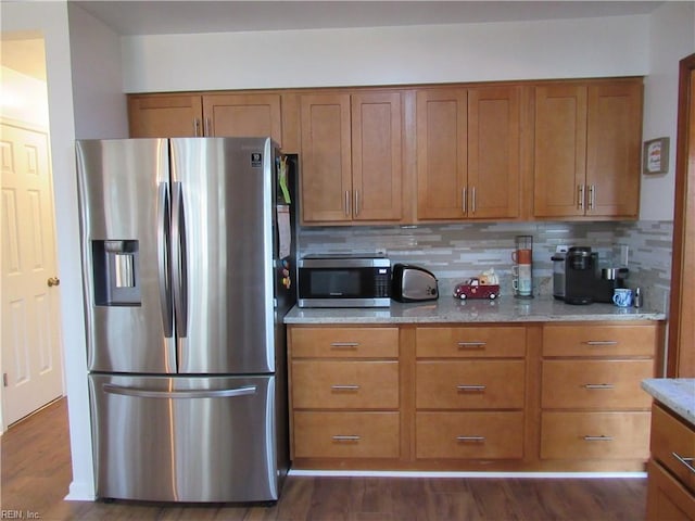
[[[128,97],[130,137],[266,137],[282,142],[280,94]]]

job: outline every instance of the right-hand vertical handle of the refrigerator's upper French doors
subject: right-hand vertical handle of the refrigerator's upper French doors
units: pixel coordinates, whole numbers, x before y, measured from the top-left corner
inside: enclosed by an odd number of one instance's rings
[[[176,334],[179,339],[188,334],[188,277],[186,270],[186,214],[184,190],[180,181],[172,183],[172,264],[174,280],[174,306]]]

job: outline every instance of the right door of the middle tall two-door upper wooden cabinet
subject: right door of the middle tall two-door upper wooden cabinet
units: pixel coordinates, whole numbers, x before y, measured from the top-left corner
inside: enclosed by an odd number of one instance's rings
[[[468,217],[519,216],[520,87],[468,91]]]

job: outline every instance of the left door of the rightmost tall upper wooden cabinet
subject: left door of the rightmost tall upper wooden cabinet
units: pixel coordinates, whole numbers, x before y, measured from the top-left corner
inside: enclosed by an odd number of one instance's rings
[[[586,87],[535,89],[533,215],[584,215]]]

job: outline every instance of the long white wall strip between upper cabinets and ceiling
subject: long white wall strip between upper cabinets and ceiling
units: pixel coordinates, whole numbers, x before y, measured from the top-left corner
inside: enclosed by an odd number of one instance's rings
[[[643,75],[648,16],[123,38],[124,90]]]

